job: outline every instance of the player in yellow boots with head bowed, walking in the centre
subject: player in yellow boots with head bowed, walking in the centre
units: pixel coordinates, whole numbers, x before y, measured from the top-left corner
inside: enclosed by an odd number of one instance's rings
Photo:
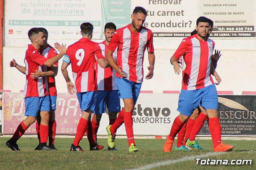
[[[106,59],[110,66],[116,70],[119,97],[124,101],[124,109],[118,114],[115,123],[107,127],[108,146],[114,147],[116,130],[124,123],[129,152],[138,151],[134,142],[132,112],[142,85],[143,60],[146,48],[148,49],[150,64],[146,79],[151,79],[154,71],[155,55],[152,31],[142,26],[146,20],[146,15],[146,10],[137,6],[131,15],[132,23],[116,30],[106,53]],[[113,58],[116,47],[118,47],[117,63]]]

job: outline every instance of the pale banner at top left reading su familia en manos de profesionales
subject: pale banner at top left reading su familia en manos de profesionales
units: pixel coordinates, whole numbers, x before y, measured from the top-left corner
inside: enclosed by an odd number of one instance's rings
[[[106,22],[117,28],[130,23],[130,0],[7,0],[6,36],[27,38],[32,27],[44,27],[52,39],[79,39],[80,25],[94,26],[94,39],[102,39]]]

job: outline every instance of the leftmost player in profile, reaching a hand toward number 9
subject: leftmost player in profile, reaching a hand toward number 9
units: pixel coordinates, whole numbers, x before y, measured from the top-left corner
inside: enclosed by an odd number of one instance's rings
[[[46,145],[50,117],[50,97],[47,91],[46,82],[45,79],[42,78],[33,79],[31,73],[34,73],[35,70],[42,71],[42,66],[51,67],[54,65],[54,63],[66,53],[66,49],[65,46],[62,46],[62,50],[58,55],[47,59],[39,53],[40,47],[46,43],[46,38],[42,30],[40,28],[31,28],[28,31],[28,37],[32,44],[28,45],[24,59],[26,65],[26,85],[24,87],[25,116],[27,116],[27,118],[20,123],[12,138],[6,142],[6,145],[12,150],[20,150],[18,148],[17,140],[24,134],[28,127],[36,121],[36,117],[38,113],[40,113],[40,144],[38,150],[53,150]]]

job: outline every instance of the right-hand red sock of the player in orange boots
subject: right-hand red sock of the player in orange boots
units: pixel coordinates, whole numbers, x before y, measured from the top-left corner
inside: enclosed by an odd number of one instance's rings
[[[213,147],[221,143],[221,127],[218,117],[209,118],[209,131],[212,135]]]

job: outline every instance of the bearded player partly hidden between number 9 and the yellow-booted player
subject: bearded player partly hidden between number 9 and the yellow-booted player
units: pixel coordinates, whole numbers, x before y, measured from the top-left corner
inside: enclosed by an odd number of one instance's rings
[[[104,27],[105,40],[99,43],[102,55],[105,57],[108,51],[108,45],[112,36],[116,32],[116,25],[112,22],[106,23]],[[116,60],[116,50],[113,53]],[[108,108],[109,125],[113,125],[116,121],[117,113],[120,112],[120,99],[118,97],[118,88],[116,86],[116,71],[112,67],[102,68],[96,61],[96,78],[98,83],[98,92],[96,97],[95,113],[92,117],[92,133],[93,138],[97,141],[97,132],[100,125],[102,113]],[[115,147],[108,150],[116,150]]]

